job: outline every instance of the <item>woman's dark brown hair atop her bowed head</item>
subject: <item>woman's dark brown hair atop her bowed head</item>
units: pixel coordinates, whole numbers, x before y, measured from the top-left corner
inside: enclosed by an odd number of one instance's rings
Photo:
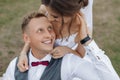
[[[42,4],[51,7],[62,15],[73,15],[88,5],[88,0],[41,0]]]

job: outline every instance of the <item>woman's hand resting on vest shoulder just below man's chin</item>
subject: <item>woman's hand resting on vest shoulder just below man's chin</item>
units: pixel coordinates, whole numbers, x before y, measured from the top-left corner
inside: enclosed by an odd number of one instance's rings
[[[58,46],[58,47],[55,47],[50,53],[53,58],[57,59],[57,58],[63,57],[67,53],[76,53],[76,52],[69,47]]]

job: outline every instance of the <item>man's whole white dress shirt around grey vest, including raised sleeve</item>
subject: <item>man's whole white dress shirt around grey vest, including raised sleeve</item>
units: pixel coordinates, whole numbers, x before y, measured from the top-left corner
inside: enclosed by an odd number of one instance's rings
[[[88,46],[85,46],[87,55],[90,55],[92,62],[85,59],[81,59],[73,54],[66,54],[63,57],[61,65],[61,79],[72,80],[78,78],[81,80],[120,80],[119,76],[114,71],[109,59],[104,59],[104,53],[97,47],[94,41]],[[41,60],[36,59],[30,53],[30,63],[32,61],[50,61],[51,55],[47,55]],[[105,57],[106,58],[106,57]],[[15,80],[16,58],[9,64],[6,73],[3,76],[3,80]],[[29,80],[39,80],[46,66],[39,65],[32,67],[31,65],[28,72]],[[34,76],[33,76],[34,75]]]

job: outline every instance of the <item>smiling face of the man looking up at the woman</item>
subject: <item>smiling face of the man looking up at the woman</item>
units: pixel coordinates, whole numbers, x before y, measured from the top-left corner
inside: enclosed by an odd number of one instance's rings
[[[53,49],[55,33],[46,17],[33,18],[28,24],[30,47],[35,52],[49,52]]]

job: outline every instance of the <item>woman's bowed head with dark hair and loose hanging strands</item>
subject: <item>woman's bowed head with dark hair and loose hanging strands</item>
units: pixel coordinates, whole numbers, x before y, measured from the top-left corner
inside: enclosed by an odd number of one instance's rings
[[[41,0],[46,6],[47,17],[52,22],[55,32],[63,36],[63,28],[68,26],[68,33],[71,34],[70,28],[75,23],[76,13],[88,5],[88,0]],[[66,32],[66,33],[67,33]]]

